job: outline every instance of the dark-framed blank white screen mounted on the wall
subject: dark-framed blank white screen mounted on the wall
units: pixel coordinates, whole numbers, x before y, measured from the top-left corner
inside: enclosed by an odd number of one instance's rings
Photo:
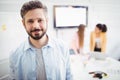
[[[85,6],[54,6],[54,27],[68,28],[87,25],[87,7]]]

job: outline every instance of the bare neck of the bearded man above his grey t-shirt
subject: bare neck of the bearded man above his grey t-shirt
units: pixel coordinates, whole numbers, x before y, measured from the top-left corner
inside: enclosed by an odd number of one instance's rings
[[[34,40],[33,38],[30,37],[30,43],[32,46],[35,48],[42,48],[44,45],[46,45],[48,42],[48,36],[44,35],[41,39],[39,40]]]

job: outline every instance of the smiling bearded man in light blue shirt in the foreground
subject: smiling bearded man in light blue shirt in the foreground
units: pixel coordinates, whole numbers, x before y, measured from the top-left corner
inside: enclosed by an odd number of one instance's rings
[[[26,2],[21,17],[29,37],[10,56],[10,79],[71,80],[68,49],[46,34],[46,6],[37,0]]]

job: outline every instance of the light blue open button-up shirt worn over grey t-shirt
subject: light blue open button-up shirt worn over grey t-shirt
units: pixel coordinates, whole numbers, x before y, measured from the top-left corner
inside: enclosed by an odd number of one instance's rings
[[[47,80],[72,80],[69,51],[63,42],[49,38],[42,47]],[[11,80],[36,80],[36,49],[29,38],[10,56]]]

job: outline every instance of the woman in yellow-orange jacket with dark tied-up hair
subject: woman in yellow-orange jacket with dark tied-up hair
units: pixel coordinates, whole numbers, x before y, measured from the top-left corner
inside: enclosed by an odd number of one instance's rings
[[[90,51],[103,52],[106,51],[106,31],[105,24],[97,24],[95,30],[90,35]]]

